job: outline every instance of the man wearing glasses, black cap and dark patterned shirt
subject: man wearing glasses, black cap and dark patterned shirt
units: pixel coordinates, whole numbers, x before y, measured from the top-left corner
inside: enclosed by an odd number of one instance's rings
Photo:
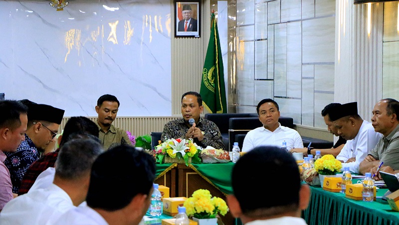
[[[5,153],[4,161],[8,168],[12,183],[12,193],[18,194],[21,180],[30,164],[40,158],[41,153],[53,141],[61,124],[64,110],[44,104],[36,104],[29,100],[21,100],[28,107],[28,123],[25,140],[15,152]]]

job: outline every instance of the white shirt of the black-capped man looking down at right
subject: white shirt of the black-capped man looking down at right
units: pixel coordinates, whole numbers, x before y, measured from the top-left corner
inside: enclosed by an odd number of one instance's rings
[[[376,132],[371,122],[363,120],[358,134],[352,140],[348,140],[337,155],[338,160],[346,162],[356,157],[355,162],[343,163],[342,168],[349,167],[352,173],[359,173],[359,164],[366,158],[369,152],[377,145],[383,134]]]

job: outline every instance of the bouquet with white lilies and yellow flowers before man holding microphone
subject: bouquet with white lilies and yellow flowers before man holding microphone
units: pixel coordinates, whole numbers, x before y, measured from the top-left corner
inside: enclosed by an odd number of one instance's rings
[[[191,160],[193,163],[201,163],[200,147],[194,143],[193,139],[168,139],[155,147],[155,154],[158,163],[163,163],[166,158],[181,160],[188,165]]]

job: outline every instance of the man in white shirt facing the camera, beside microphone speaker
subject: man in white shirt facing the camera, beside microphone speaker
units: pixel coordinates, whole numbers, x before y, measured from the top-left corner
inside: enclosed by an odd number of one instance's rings
[[[271,99],[264,99],[256,107],[259,120],[263,126],[249,131],[242,144],[242,151],[248,152],[252,148],[262,145],[281,147],[283,141],[287,142],[287,150],[303,148],[302,137],[298,131],[280,125],[280,111],[278,104]]]

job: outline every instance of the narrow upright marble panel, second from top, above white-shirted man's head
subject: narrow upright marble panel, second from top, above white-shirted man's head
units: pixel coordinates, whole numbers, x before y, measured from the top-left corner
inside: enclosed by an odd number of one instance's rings
[[[255,79],[267,79],[267,40],[255,41]]]

